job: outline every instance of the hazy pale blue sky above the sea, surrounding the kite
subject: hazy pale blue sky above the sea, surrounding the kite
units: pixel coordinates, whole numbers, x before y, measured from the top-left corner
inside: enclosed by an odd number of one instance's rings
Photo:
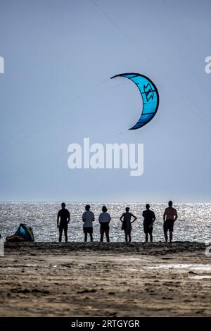
[[[210,0],[0,0],[0,56],[0,201],[211,202]],[[68,168],[84,137],[143,144],[143,175]]]

